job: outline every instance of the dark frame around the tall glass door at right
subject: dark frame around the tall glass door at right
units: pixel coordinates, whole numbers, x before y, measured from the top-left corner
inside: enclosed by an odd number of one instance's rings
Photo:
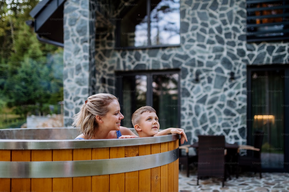
[[[289,67],[284,65],[262,65],[262,66],[247,66],[247,119],[251,119],[252,117],[252,72],[254,71],[271,71],[271,70],[284,70],[284,75],[289,77]],[[289,78],[284,78],[284,103],[289,105]],[[289,162],[289,107],[284,109],[284,162]],[[253,145],[252,143],[252,124],[251,121],[247,121],[247,145]],[[287,137],[287,139],[286,139]],[[287,151],[287,152],[286,152]],[[263,168],[264,172],[289,172],[289,165],[284,164],[284,168],[276,169],[276,168]]]

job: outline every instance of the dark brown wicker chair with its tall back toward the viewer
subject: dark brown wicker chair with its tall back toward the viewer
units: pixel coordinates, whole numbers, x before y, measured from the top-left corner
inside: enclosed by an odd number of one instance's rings
[[[198,150],[198,178],[210,177],[225,182],[225,136],[200,135]]]

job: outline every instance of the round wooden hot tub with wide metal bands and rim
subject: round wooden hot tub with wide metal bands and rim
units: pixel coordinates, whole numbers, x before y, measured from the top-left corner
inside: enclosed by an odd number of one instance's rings
[[[178,191],[179,135],[77,135],[75,128],[0,130],[0,191]]]

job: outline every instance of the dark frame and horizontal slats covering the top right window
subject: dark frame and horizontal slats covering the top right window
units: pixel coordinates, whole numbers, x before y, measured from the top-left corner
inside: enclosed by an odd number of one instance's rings
[[[279,6],[279,2],[282,1],[283,4]],[[278,6],[273,7],[255,7],[257,4],[261,3],[273,3],[274,2]],[[289,40],[289,2],[288,0],[247,0],[247,42],[260,42],[260,41],[283,41],[285,40],[288,42]],[[254,13],[256,11],[264,11],[264,10],[273,10],[273,9],[283,9],[282,14],[268,14],[268,15],[261,15],[256,16]],[[269,22],[269,23],[254,23],[255,20],[260,19],[272,19],[272,18],[281,18],[282,22]],[[269,30],[269,31],[257,31],[258,27],[270,27],[274,25],[281,25],[283,24],[284,27],[279,30]],[[271,35],[276,34],[275,36],[267,36],[264,37],[264,35],[268,35],[270,33]],[[284,33],[284,35],[278,35]],[[256,35],[263,35],[263,37],[257,37]]]

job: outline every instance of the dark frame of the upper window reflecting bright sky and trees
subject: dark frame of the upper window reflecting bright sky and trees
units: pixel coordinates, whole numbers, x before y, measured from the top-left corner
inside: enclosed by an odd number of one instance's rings
[[[151,0],[146,0],[147,1],[147,16],[150,18],[150,8],[151,8]],[[181,3],[181,1],[179,2]],[[181,5],[180,5],[180,8],[181,8]],[[179,12],[179,14],[181,15],[181,12]],[[121,34],[121,30],[120,30],[120,26],[121,26],[121,21],[120,20],[117,20],[116,21],[116,47],[118,47],[119,49],[118,50],[139,50],[139,49],[154,49],[154,48],[166,48],[166,47],[180,47],[181,46],[181,41],[179,44],[162,44],[162,45],[151,45],[151,36],[150,36],[150,33],[151,33],[151,25],[150,25],[150,20],[148,19],[147,20],[148,22],[148,45],[145,45],[145,46],[125,46],[125,47],[122,47],[121,46],[121,41],[120,41],[120,34]],[[181,23],[181,18],[180,18],[180,21]],[[181,40],[181,33],[179,34],[180,35],[180,40]]]

